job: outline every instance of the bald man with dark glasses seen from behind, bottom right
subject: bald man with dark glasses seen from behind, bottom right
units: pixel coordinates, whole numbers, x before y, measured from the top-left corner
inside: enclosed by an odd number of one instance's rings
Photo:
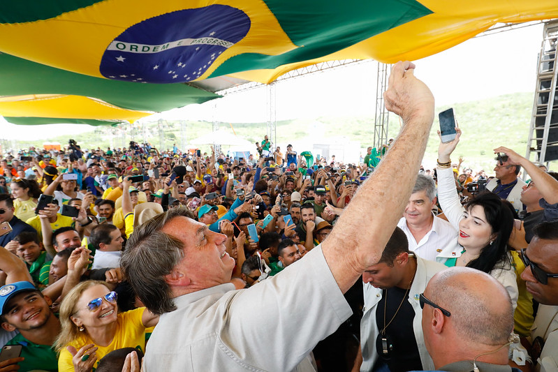
[[[478,371],[517,371],[508,366],[511,299],[492,276],[469,267],[440,271],[420,295],[420,306],[436,370],[473,371],[476,358]]]

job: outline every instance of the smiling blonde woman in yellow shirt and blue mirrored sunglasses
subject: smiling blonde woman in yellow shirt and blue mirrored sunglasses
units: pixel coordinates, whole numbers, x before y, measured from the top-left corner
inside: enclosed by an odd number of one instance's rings
[[[145,329],[159,315],[146,308],[118,313],[117,294],[103,281],[76,285],[60,306],[61,332],[54,347],[60,352],[58,369],[89,372],[112,350],[140,348],[145,352]]]

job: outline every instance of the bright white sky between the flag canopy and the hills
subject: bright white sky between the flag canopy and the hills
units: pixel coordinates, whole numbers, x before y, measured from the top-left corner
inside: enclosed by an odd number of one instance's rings
[[[541,24],[472,38],[434,56],[414,61],[416,77],[434,94],[436,105],[475,101],[514,92],[534,91],[536,61],[543,38]],[[374,115],[374,61],[352,64],[276,84],[276,118]],[[201,105],[163,113],[166,119],[223,122],[267,121],[267,87],[251,89]],[[145,119],[144,119],[145,120]],[[147,119],[149,121],[149,119]],[[94,127],[61,124],[15,126],[0,117],[1,138],[46,139],[53,133],[81,133]]]

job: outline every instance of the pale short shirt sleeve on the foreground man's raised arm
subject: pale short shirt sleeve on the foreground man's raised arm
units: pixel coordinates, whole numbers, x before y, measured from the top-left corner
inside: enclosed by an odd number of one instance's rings
[[[258,320],[247,319],[247,314]],[[230,299],[228,327],[221,340],[237,355],[245,355],[254,350],[262,325],[275,324],[265,348],[259,348],[257,355],[251,353],[251,359],[267,371],[292,371],[296,358],[285,355],[307,355],[351,314],[318,246],[272,278],[237,291]]]

